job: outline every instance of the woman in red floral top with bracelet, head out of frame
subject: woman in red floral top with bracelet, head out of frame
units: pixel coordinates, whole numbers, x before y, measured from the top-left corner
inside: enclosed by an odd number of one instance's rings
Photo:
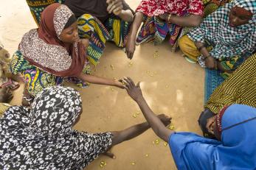
[[[153,41],[158,45],[167,35],[170,35],[170,45],[173,46],[182,27],[198,26],[201,23],[203,9],[201,0],[142,0],[136,9],[125,47],[128,58],[134,56],[136,44]],[[142,22],[142,29],[136,37]]]

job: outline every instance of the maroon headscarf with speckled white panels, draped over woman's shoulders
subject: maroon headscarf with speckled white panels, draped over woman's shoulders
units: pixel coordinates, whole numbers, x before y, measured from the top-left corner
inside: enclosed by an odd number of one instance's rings
[[[82,43],[63,43],[59,36],[70,18],[71,10],[63,4],[51,4],[41,14],[38,29],[27,32],[19,50],[32,65],[59,77],[77,77],[86,62]]]

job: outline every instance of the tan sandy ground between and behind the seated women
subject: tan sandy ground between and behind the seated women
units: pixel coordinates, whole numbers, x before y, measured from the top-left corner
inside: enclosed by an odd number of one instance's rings
[[[139,0],[127,1],[134,9],[139,4]],[[0,2],[0,40],[10,54],[13,54],[24,33],[35,28],[36,24],[26,1]],[[156,51],[159,52],[157,58],[153,57]],[[114,65],[114,70],[110,65]],[[145,99],[155,113],[167,113],[172,116],[172,124],[176,131],[201,134],[197,118],[203,108],[204,71],[198,65],[187,63],[180,52],[170,52],[167,42],[160,46],[137,46],[132,61],[125,57],[121,49],[108,43],[94,74],[108,78],[129,76],[135,81],[141,81]],[[77,130],[123,130],[145,121],[142,113],[136,118],[133,117],[134,113],[139,111],[139,107],[124,90],[103,85],[91,85],[89,88],[78,90],[83,97],[83,114],[75,126]],[[13,105],[20,104],[21,91],[22,88],[15,91]],[[156,139],[158,138],[153,131],[148,130],[131,141],[114,146],[112,152],[117,156],[116,160],[100,156],[87,169],[176,169],[169,147],[162,141],[158,145],[153,144]],[[100,168],[100,161],[106,161],[107,165]]]

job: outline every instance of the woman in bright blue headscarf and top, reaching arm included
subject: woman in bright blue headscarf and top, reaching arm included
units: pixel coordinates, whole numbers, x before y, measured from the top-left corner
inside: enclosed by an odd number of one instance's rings
[[[139,83],[134,85],[131,79],[125,79],[125,84],[153,131],[169,143],[179,170],[256,169],[255,107],[224,107],[212,124],[217,141],[192,132],[169,130],[148,107]]]

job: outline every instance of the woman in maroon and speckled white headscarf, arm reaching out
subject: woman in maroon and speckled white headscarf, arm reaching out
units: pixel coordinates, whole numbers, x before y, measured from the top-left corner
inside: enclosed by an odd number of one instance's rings
[[[81,87],[91,82],[123,88],[121,82],[89,75],[87,46],[89,40],[78,37],[77,19],[66,5],[46,7],[39,28],[24,35],[11,62],[13,74],[21,73],[26,80],[24,99],[32,102],[37,93],[66,77]]]

